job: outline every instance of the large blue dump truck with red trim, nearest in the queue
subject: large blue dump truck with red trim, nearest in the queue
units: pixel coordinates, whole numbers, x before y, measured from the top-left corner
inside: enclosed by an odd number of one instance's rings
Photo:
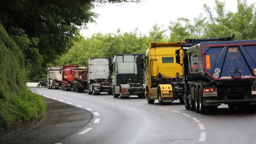
[[[185,40],[185,108],[207,113],[220,104],[229,108],[248,108],[256,104],[256,40]]]

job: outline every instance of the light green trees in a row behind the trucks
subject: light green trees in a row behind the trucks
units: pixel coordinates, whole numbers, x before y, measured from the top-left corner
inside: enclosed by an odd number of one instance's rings
[[[79,64],[86,65],[88,57],[114,56],[116,53],[145,53],[150,41],[184,41],[185,39],[198,39],[210,37],[228,37],[233,33],[237,40],[256,39],[256,11],[254,5],[247,5],[246,1],[238,1],[238,11],[225,11],[224,2],[216,2],[211,9],[204,5],[207,17],[189,20],[178,18],[171,21],[168,30],[153,25],[148,36],[137,33],[121,33],[117,30],[112,34],[94,34],[92,37],[82,39],[75,43],[68,52],[61,56],[55,65]],[[169,32],[169,36],[165,36]]]

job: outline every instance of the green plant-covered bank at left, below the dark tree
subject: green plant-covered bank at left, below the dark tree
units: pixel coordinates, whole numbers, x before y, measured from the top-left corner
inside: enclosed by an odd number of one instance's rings
[[[27,71],[23,50],[0,24],[0,127],[29,121],[46,110],[43,99],[25,85]]]

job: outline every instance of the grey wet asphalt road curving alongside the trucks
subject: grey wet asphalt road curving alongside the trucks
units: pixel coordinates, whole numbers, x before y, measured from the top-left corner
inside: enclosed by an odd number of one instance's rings
[[[73,91],[32,88],[38,94],[86,108],[93,119],[59,143],[255,143],[256,112],[231,111],[220,105],[215,113],[202,115],[171,105],[148,104],[135,95],[88,95]]]

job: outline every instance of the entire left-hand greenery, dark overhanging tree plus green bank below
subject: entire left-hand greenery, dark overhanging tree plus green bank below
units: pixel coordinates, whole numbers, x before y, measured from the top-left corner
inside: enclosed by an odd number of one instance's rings
[[[128,0],[2,0],[0,2],[0,128],[28,121],[46,109],[26,87],[46,73],[47,63],[66,52],[97,14],[95,4]],[[130,1],[130,0],[129,0]],[[137,2],[137,1],[134,1]]]

